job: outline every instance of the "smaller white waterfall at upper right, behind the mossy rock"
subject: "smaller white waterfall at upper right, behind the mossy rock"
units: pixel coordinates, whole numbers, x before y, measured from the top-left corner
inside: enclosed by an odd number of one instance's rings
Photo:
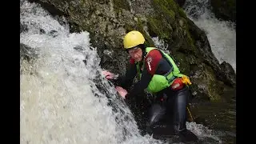
[[[210,0],[186,0],[187,16],[206,31],[211,50],[220,63],[226,61],[236,71],[236,31],[233,22],[220,21],[210,11]]]

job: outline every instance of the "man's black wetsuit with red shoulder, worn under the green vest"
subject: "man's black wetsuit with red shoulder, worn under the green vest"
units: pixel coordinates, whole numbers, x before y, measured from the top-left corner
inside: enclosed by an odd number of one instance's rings
[[[145,53],[143,53],[145,55]],[[150,59],[150,60],[149,60]],[[166,74],[171,66],[159,50],[150,50],[143,58],[144,69],[141,80],[134,84],[134,89],[129,90],[126,98],[142,94],[150,83],[154,74]],[[140,63],[142,67],[142,62]],[[116,83],[126,90],[133,84],[137,68],[134,59],[130,59],[130,66],[124,77],[118,77]],[[186,130],[186,106],[190,91],[187,86],[182,90],[171,90],[166,88],[155,94],[154,103],[149,110],[149,122],[147,131],[157,135],[173,135],[187,133]],[[164,125],[163,125],[164,124]]]

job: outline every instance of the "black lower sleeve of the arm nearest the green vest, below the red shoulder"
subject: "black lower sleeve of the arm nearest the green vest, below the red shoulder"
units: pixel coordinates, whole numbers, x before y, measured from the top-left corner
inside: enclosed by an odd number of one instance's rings
[[[146,70],[146,67],[142,71],[142,78],[140,81],[134,84],[134,89],[130,90],[128,94],[126,94],[126,98],[130,98],[131,96],[142,94],[146,87],[149,85],[151,78],[153,76]]]

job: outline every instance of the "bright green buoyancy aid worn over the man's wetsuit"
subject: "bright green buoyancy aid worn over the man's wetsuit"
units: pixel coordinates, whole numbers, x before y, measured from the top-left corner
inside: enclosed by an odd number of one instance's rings
[[[150,50],[157,49],[155,47],[146,47],[146,55],[149,54]],[[157,49],[159,50],[159,49]],[[176,66],[174,60],[170,58],[170,56],[166,53],[164,53],[162,50],[159,50],[162,55],[166,58],[167,62],[171,65],[171,69],[164,75],[154,74],[153,78],[151,78],[151,81],[149,85],[147,86],[146,90],[150,93],[157,93],[166,87],[169,87],[173,82],[175,78],[181,78],[183,74],[180,74],[180,71],[178,70],[178,66]],[[146,57],[146,56],[145,56]],[[137,72],[139,75],[139,78],[142,77],[142,72],[139,66],[139,62],[136,62]],[[144,62],[142,65],[142,70],[144,67]]]

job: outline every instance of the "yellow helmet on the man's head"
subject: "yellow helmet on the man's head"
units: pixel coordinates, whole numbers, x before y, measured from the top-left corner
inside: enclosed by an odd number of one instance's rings
[[[142,33],[138,32],[137,30],[130,31],[126,34],[125,38],[123,39],[123,46],[125,49],[130,49],[134,46],[138,46],[145,42],[145,38],[143,37]]]

